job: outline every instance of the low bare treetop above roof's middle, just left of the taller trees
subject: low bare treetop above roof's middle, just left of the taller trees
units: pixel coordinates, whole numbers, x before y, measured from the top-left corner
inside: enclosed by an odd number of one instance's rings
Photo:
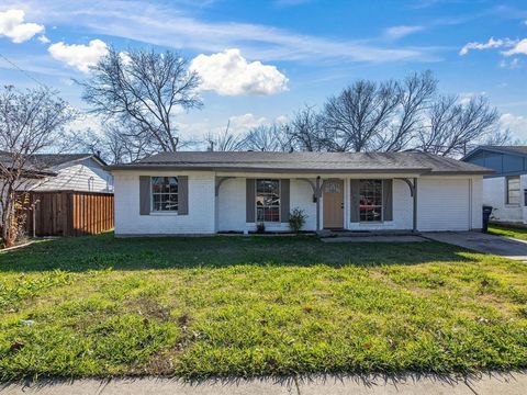
[[[285,127],[277,124],[254,127],[245,135],[242,146],[255,151],[290,150],[292,147]]]

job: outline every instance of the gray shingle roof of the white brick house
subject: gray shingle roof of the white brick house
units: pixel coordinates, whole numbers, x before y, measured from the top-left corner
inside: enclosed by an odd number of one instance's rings
[[[161,153],[110,170],[180,169],[268,172],[418,172],[490,174],[493,170],[425,153]]]

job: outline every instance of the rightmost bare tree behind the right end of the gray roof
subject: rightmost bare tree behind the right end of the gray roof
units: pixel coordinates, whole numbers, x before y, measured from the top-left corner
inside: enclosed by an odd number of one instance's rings
[[[423,129],[418,148],[441,156],[464,155],[495,131],[500,114],[485,97],[467,103],[457,95],[439,97],[430,108],[429,125]]]

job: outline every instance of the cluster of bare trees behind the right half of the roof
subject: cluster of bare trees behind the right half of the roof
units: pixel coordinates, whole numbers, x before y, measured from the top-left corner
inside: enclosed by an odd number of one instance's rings
[[[421,150],[459,157],[478,144],[511,142],[498,129],[489,99],[440,94],[430,71],[401,81],[358,80],[322,108],[305,105],[281,125],[259,126],[235,138],[216,137],[220,150],[395,153]]]

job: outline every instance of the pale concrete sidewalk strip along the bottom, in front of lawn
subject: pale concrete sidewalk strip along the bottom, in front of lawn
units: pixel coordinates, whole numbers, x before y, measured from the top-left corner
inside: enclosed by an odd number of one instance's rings
[[[0,394],[38,395],[378,395],[378,394],[527,394],[527,374],[485,374],[479,377],[445,379],[436,376],[349,376],[313,380],[208,381],[184,384],[169,379],[79,380],[72,382],[37,382],[26,386],[0,384]]]

